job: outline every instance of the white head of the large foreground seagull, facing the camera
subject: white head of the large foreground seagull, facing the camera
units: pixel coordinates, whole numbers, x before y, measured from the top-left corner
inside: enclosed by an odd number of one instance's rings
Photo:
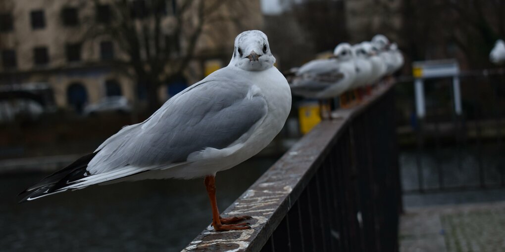
[[[267,35],[262,31],[244,31],[235,38],[229,66],[245,71],[263,71],[273,67],[274,63]]]

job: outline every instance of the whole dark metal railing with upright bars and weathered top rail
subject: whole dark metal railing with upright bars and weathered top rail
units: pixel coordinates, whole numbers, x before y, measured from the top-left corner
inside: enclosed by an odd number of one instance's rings
[[[401,209],[391,86],[302,138],[183,251],[397,251]]]

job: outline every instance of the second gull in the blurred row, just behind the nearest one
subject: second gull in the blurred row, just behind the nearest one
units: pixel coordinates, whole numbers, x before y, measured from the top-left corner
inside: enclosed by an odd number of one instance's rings
[[[351,88],[364,87],[373,80],[372,61],[370,61],[370,55],[363,49],[362,44],[353,45],[352,50],[356,66],[356,80]]]

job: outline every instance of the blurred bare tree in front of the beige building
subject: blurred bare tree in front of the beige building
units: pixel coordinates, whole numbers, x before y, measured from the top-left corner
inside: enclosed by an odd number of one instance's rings
[[[100,3],[93,1],[96,10],[103,8]],[[114,0],[109,5],[110,20],[87,19],[94,22],[85,37],[107,35],[115,41],[123,53],[115,65],[133,71],[137,83],[145,85],[148,109],[154,111],[159,107],[159,87],[188,67],[204,26],[236,22],[229,15],[232,12],[224,9],[241,5],[243,1],[232,0]]]

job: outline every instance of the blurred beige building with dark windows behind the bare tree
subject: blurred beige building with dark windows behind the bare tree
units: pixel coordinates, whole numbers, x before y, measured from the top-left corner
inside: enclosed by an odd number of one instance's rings
[[[78,112],[111,96],[146,101],[151,87],[163,101],[225,66],[236,34],[262,22],[259,1],[6,0],[0,85],[36,83]]]

